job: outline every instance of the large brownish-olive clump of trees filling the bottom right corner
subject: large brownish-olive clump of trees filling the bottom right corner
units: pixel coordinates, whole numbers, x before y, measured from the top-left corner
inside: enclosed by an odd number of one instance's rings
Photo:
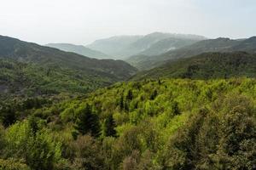
[[[247,106],[241,105],[243,103]],[[244,96],[232,95],[218,106],[218,112],[200,111],[172,136],[162,158],[164,167],[254,168],[256,122],[252,101]]]

